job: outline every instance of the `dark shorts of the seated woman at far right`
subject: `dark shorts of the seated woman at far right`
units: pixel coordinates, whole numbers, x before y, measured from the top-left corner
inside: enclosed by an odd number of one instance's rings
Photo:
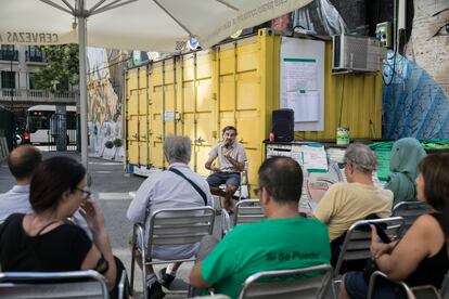
[[[368,284],[364,281],[363,272],[347,272],[345,275],[345,288],[352,299],[364,299],[368,296]],[[374,285],[374,294],[372,298],[380,299],[407,299],[402,288],[383,277],[377,277]]]

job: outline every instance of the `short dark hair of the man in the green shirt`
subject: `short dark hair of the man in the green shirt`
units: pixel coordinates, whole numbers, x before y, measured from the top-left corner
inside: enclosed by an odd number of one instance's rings
[[[259,168],[259,186],[280,204],[297,204],[303,191],[303,170],[290,157],[266,159]]]

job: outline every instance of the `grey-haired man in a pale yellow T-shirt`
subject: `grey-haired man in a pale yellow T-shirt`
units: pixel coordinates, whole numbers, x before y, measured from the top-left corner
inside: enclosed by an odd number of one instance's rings
[[[328,225],[331,242],[359,220],[392,214],[393,193],[373,184],[375,153],[364,144],[354,143],[345,153],[347,182],[332,185],[321,198],[313,216]]]

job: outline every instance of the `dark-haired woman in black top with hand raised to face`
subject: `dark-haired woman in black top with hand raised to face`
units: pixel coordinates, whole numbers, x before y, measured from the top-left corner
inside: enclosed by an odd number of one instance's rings
[[[86,170],[68,157],[44,160],[36,170],[29,191],[34,212],[11,214],[0,226],[2,271],[97,270],[116,296],[117,269],[104,217],[86,190]],[[79,208],[92,232],[69,222]]]

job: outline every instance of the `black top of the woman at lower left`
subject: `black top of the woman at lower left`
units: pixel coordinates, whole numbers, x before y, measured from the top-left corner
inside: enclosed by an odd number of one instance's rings
[[[2,271],[76,271],[92,247],[86,232],[64,223],[37,236],[23,229],[23,213],[11,214],[0,225],[0,264]]]

